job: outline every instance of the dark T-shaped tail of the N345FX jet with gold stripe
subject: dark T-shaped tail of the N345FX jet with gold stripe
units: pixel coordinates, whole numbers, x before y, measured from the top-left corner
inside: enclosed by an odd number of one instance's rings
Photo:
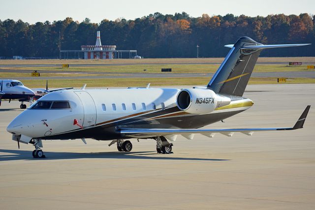
[[[210,80],[207,88],[215,93],[243,96],[262,49],[303,45],[308,44],[263,45],[250,37],[243,36],[234,45],[225,45],[231,50]]]

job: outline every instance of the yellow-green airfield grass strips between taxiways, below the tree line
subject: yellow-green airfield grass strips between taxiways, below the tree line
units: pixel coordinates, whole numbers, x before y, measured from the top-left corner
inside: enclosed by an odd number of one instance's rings
[[[0,69],[9,70],[37,70],[43,77],[64,76],[64,79],[49,80],[50,87],[81,87],[87,83],[88,87],[126,87],[126,86],[146,86],[151,83],[152,86],[170,86],[170,85],[206,85],[210,78],[205,77],[177,77],[177,78],[99,78],[92,79],[89,76],[99,75],[97,72],[111,72],[122,75],[124,73],[160,73],[161,68],[172,68],[172,73],[214,73],[219,68],[223,58],[187,58],[187,59],[113,59],[113,60],[0,60],[0,65],[39,65],[39,64],[70,64],[70,68],[62,69],[56,67],[0,67]],[[258,62],[314,62],[314,57],[299,57],[299,58],[259,58]],[[167,63],[167,65],[165,65]],[[94,67],[71,67],[71,64],[115,64],[118,66],[94,66]],[[127,65],[132,64],[132,65]],[[54,70],[57,72],[47,72]],[[146,70],[146,71],[144,71]],[[73,73],[65,73],[64,71],[77,71]],[[94,71],[94,72],[93,72]],[[271,65],[257,64],[254,72],[283,72],[283,71],[310,71],[307,66],[289,67],[287,65]],[[314,71],[314,70],[312,70]],[[102,74],[104,75],[104,74]],[[17,72],[1,72],[3,78],[14,77],[29,77],[31,73]],[[68,77],[81,77],[82,79],[71,79]],[[46,80],[23,80],[28,87],[43,87]],[[274,84],[277,83],[277,78],[251,78],[250,84]],[[287,80],[287,83],[315,83],[312,78],[294,78]]]

